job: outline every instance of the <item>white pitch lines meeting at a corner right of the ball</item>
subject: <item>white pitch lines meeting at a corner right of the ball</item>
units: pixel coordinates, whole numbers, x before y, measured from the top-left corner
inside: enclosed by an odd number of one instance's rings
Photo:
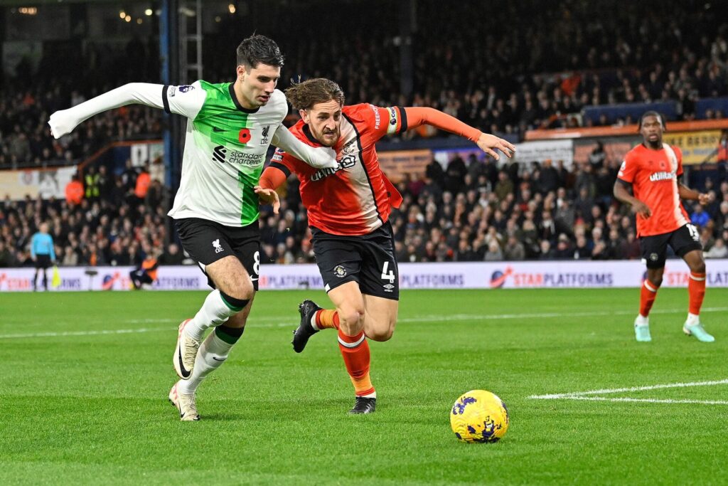
[[[609,397],[598,396],[610,393],[625,393],[634,391],[662,390],[666,388],[690,388],[694,386],[727,385],[728,379],[694,381],[688,383],[664,383],[660,385],[631,386],[627,388],[604,388],[601,390],[571,391],[567,393],[550,393],[547,395],[531,395],[527,398],[534,400],[587,400],[587,401],[624,401],[641,403],[665,403],[665,404],[707,404],[707,405],[728,405],[726,400],[693,400],[693,399],[636,399],[632,397]]]

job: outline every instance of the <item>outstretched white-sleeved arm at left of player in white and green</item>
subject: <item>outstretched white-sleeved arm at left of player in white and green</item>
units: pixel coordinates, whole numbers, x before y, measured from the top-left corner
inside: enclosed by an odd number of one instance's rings
[[[132,82],[117,87],[115,90],[98,95],[88,101],[66,110],[58,110],[50,116],[48,125],[55,138],[71,133],[79,123],[99,114],[102,111],[119,108],[119,106],[139,103],[154,108],[164,109],[164,85]]]

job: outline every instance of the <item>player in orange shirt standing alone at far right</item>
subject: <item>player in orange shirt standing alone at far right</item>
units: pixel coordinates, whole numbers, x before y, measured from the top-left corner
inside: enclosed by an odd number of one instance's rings
[[[705,205],[710,202],[710,196],[678,181],[683,173],[682,154],[678,147],[662,143],[665,120],[660,114],[656,111],[643,114],[639,131],[643,141],[625,155],[614,183],[614,197],[631,205],[637,213],[637,233],[642,258],[647,264],[647,278],[642,285],[639,314],[635,319],[635,335],[641,342],[652,340],[649,310],[662,283],[670,245],[690,267],[689,310],[683,331],[699,341],[713,342],[713,336],[700,324],[700,306],[705,297],[703,245],[680,203],[682,198]],[[634,195],[628,192],[629,187]]]

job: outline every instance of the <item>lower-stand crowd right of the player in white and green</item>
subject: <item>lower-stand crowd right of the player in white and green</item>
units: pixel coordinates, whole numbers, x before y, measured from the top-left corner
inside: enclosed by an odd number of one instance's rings
[[[493,160],[432,161],[424,178],[397,184],[403,204],[390,216],[400,262],[524,259],[639,259],[634,215],[616,203],[618,165],[499,167]],[[298,182],[288,179],[281,217],[261,213],[263,261],[313,262]],[[728,256],[728,181],[706,181],[713,203],[684,203],[708,258]]]

